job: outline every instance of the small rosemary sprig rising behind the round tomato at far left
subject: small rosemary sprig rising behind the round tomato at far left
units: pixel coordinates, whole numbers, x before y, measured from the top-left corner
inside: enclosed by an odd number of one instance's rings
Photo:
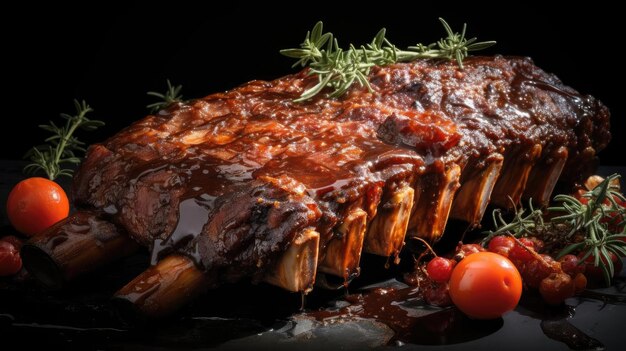
[[[76,152],[85,152],[85,143],[78,140],[74,132],[79,128],[93,131],[104,125],[102,121],[87,118],[87,114],[93,109],[84,100],[81,102],[74,100],[74,106],[76,107],[75,115],[61,114],[61,118],[66,120],[64,126],[57,126],[53,121],[39,126],[52,133],[52,136],[45,140],[47,144],[35,146],[26,153],[24,157],[28,158],[31,163],[24,167],[24,172],[34,174],[37,171],[43,171],[51,180],[59,176],[72,176],[74,171],[64,168],[63,165],[80,163]]]

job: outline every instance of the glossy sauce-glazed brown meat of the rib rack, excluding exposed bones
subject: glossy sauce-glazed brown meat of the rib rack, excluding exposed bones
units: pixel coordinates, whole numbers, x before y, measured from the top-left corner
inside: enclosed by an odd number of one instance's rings
[[[574,178],[609,141],[608,110],[529,59],[464,66],[375,67],[372,92],[295,103],[316,83],[303,71],[178,104],[92,146],[75,201],[155,260],[181,251],[236,280],[262,274],[303,228],[323,249],[353,204],[374,216],[390,182],[534,144],[567,147],[563,174]]]

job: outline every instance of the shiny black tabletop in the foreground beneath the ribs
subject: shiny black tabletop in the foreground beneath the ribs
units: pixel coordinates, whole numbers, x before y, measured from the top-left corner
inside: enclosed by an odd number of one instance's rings
[[[1,164],[0,196],[4,203],[9,187],[21,177],[17,171],[21,163]],[[613,171],[602,169],[605,174]],[[2,235],[12,233],[6,225],[0,230]],[[513,350],[585,349],[581,346],[616,350],[626,339],[624,273],[614,286],[569,299],[565,306],[556,308],[525,294],[515,311],[487,322],[469,320],[454,309],[438,310],[411,299],[391,299],[416,322],[413,333],[397,338],[387,325],[372,319],[340,318],[320,323],[315,314],[300,310],[300,295],[263,284],[241,283],[210,291],[166,320],[128,318],[109,298],[148,262],[146,253],[135,255],[56,293],[46,292],[28,279],[1,279],[0,335],[18,347],[133,350],[317,350],[400,345],[402,349],[420,350],[440,349],[440,345],[450,350],[496,346]],[[367,296],[380,286],[403,288],[396,280],[400,269],[385,269],[381,258],[364,256],[362,272],[348,292],[316,289],[306,297],[305,312],[345,306],[347,293]]]

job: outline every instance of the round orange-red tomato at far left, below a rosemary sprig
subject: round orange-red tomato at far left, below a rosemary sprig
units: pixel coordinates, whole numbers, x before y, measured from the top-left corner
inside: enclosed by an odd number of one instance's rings
[[[18,231],[31,236],[67,217],[70,204],[63,188],[44,178],[19,182],[7,200],[7,214]]]

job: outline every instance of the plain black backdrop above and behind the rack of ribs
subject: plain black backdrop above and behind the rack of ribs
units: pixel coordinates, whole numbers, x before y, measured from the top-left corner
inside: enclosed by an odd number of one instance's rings
[[[189,98],[294,72],[292,60],[278,50],[297,46],[317,20],[343,45],[369,42],[385,26],[388,38],[406,47],[443,36],[437,21],[442,16],[455,30],[467,22],[469,36],[497,40],[486,53],[530,56],[566,84],[602,100],[611,108],[614,135],[602,163],[624,164],[624,20],[614,6],[211,3],[21,2],[3,10],[0,159],[21,158],[43,140],[37,125],[73,112],[74,98],[86,99],[96,110],[92,116],[106,121],[101,131],[79,135],[96,142],[143,117],[152,101],[145,93],[163,91],[167,78],[182,84]]]

